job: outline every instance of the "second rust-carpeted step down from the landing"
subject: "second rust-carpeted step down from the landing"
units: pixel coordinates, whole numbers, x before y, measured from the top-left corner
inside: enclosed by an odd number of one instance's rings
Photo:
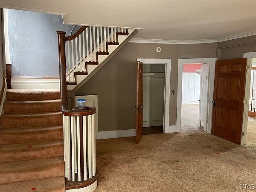
[[[61,111],[61,99],[45,101],[6,101],[4,113],[41,113]]]

